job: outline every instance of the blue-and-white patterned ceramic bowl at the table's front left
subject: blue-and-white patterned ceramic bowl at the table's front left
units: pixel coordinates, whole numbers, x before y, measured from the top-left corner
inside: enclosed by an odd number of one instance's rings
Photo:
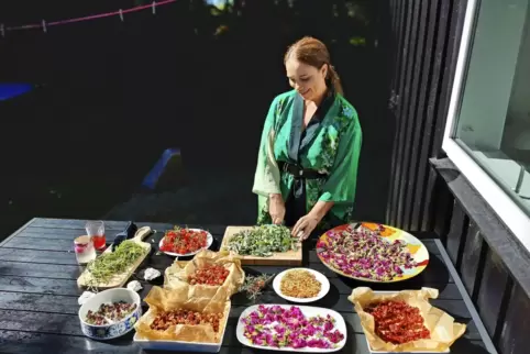
[[[112,324],[96,325],[85,321],[89,310],[95,312],[98,311],[101,303],[112,303],[119,301],[136,303],[136,309],[123,320]],[[81,324],[82,333],[88,338],[101,341],[112,340],[129,333],[134,328],[134,323],[136,323],[141,316],[142,307],[140,296],[137,292],[125,288],[109,289],[98,292],[96,296],[85,302],[79,309],[79,322]]]

